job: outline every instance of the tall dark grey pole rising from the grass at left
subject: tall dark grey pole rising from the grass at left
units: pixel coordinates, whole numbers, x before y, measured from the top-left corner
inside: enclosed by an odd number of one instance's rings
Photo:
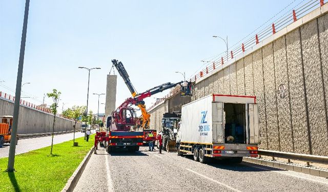
[[[17,141],[16,136],[17,136],[17,125],[18,125],[18,114],[19,114],[19,101],[20,101],[20,91],[22,91],[22,78],[23,78],[23,66],[24,66],[29,7],[30,7],[30,0],[26,0],[23,31],[22,31],[22,40],[20,41],[18,72],[17,72],[17,81],[16,81],[16,92],[15,92],[15,104],[14,104],[14,116],[13,116],[12,130],[11,130],[7,172],[14,172],[14,170],[15,170],[14,164],[15,164],[16,141]]]

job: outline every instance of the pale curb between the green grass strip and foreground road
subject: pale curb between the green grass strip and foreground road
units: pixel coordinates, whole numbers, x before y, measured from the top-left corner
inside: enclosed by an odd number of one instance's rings
[[[86,157],[83,159],[83,161],[78,165],[78,167],[76,168],[75,172],[73,173],[73,175],[69,178],[69,180],[67,181],[65,187],[63,188],[63,190],[61,190],[61,192],[71,192],[74,190],[74,187],[76,185],[76,183],[78,182],[79,178],[81,177],[84,168],[86,167],[92,153],[94,151],[94,146],[91,147],[90,151],[88,152],[88,154],[86,155]]]

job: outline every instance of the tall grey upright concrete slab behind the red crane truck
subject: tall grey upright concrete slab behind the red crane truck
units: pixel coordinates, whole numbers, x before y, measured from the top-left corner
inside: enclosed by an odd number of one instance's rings
[[[116,109],[116,86],[117,86],[117,75],[107,75],[106,85],[106,106],[105,106],[105,117],[107,118]]]

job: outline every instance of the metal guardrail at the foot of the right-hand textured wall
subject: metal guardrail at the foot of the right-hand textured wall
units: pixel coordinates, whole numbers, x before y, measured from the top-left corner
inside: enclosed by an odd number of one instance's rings
[[[284,159],[293,159],[293,160],[299,160],[299,161],[304,161],[304,162],[328,164],[327,156],[306,155],[306,154],[277,152],[277,151],[269,151],[269,150],[258,150],[258,155],[279,157],[279,158],[284,158]]]

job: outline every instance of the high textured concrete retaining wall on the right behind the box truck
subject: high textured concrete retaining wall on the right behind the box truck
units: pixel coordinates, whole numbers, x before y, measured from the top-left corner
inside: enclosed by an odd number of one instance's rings
[[[326,4],[197,79],[191,100],[212,93],[255,95],[260,148],[327,156],[327,10]]]

